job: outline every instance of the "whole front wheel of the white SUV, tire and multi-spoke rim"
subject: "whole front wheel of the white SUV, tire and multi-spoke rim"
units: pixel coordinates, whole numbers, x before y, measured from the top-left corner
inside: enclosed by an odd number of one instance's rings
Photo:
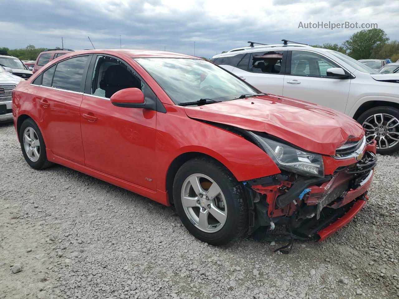
[[[399,109],[381,106],[371,108],[358,118],[366,131],[367,142],[377,141],[377,152],[390,154],[399,150]]]

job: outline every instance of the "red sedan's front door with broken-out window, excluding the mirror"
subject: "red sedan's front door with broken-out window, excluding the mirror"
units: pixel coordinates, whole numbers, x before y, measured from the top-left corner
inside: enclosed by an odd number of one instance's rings
[[[114,106],[115,92],[139,88],[144,97],[152,90],[126,63],[115,57],[93,58],[81,105],[85,165],[124,181],[156,190],[156,111]]]

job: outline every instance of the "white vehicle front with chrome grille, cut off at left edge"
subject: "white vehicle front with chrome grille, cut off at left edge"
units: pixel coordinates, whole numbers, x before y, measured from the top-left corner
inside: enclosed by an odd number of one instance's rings
[[[12,121],[11,92],[21,81],[25,79],[12,75],[12,69],[0,66],[0,123]]]

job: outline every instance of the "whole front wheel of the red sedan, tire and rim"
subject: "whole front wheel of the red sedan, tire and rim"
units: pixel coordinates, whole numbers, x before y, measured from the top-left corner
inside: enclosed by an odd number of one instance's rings
[[[196,238],[221,245],[247,230],[247,205],[237,179],[221,163],[198,157],[174,179],[173,199],[184,226]]]

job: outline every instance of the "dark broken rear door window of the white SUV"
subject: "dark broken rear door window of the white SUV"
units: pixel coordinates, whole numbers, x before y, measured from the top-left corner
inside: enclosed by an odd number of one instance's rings
[[[251,53],[248,71],[253,73],[280,74],[283,51]]]

